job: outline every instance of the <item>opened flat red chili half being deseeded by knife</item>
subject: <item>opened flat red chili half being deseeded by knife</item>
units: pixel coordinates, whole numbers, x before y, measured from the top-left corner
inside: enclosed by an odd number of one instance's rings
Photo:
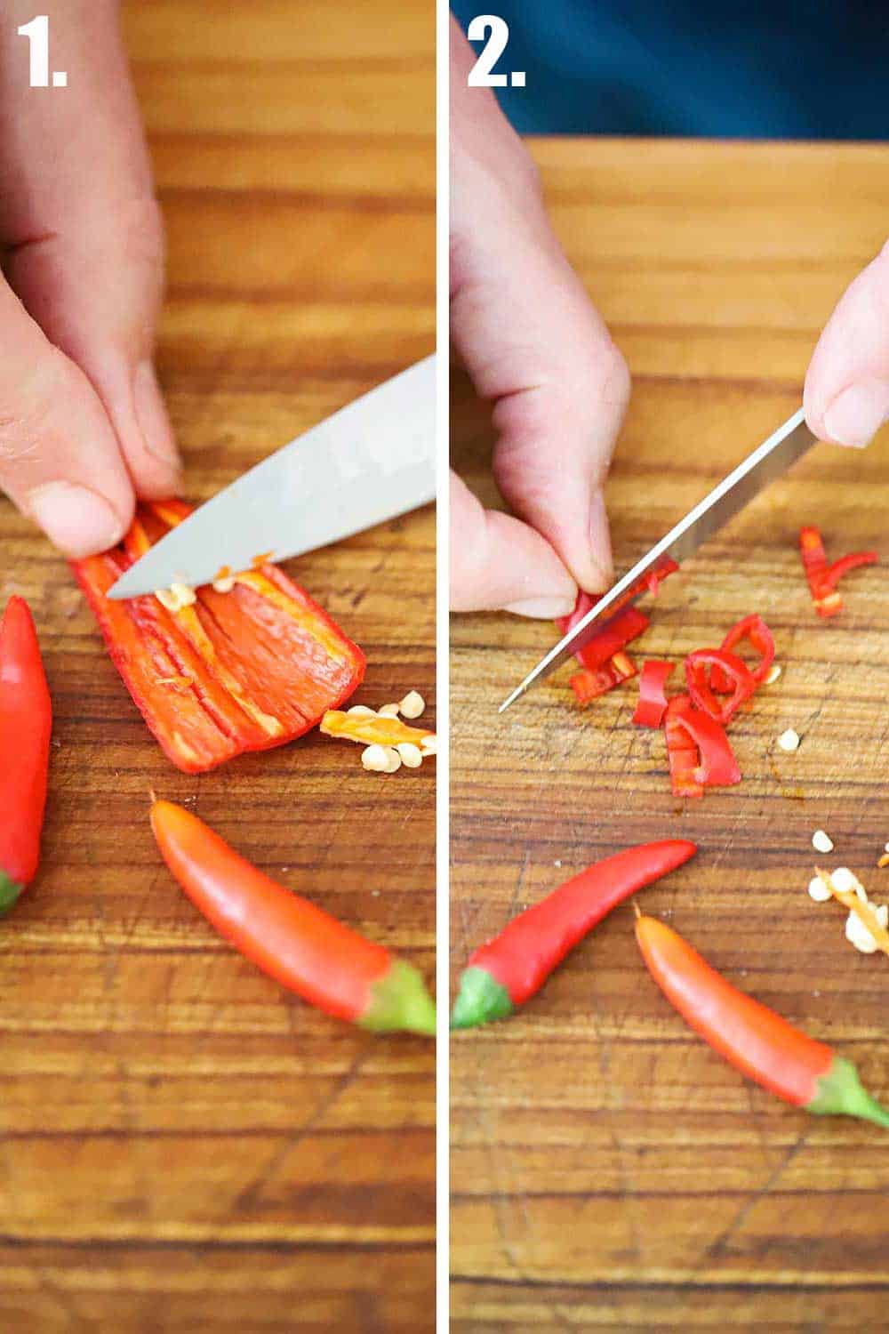
[[[191,604],[112,602],[117,578],[191,514],[140,507],[120,547],[73,564],[108,651],[165,754],[187,774],[301,736],[364,676],[364,654],[275,566],[233,575]],[[188,590],[185,590],[188,592]]]

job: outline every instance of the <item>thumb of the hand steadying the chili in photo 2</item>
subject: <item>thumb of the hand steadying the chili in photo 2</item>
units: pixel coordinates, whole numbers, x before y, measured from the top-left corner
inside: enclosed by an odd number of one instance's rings
[[[545,538],[508,514],[484,510],[450,474],[450,608],[554,620],[574,610],[577,586]]]

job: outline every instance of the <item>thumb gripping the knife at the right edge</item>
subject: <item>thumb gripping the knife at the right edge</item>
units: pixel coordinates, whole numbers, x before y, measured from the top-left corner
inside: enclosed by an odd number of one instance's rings
[[[821,440],[864,448],[889,420],[889,244],[841,296],[814,350],[802,395]]]

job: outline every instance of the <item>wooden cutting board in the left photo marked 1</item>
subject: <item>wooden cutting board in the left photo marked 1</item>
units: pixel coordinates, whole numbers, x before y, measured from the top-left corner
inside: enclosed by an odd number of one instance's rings
[[[201,499],[435,346],[433,21],[125,20],[169,237],[160,375]],[[288,566],[365,648],[356,700],[435,704],[433,543],[427,510]],[[0,1327],[432,1329],[432,1043],[352,1031],[229,950],[160,862],[148,792],[432,978],[435,764],[371,775],[316,734],[187,778],[7,503],[0,552],[56,710],[43,868],[0,931]]]

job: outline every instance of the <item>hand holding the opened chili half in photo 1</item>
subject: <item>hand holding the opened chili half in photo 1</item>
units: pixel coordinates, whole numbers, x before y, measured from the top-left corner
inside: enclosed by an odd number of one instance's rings
[[[155,379],[163,227],[115,0],[49,0],[68,87],[28,85],[0,25],[0,487],[69,556],[117,542],[135,495],[176,491]]]

